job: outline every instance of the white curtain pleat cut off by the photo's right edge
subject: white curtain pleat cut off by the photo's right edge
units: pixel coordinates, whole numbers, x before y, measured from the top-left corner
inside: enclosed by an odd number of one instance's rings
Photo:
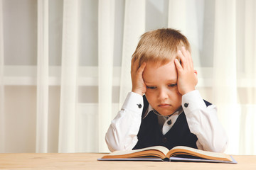
[[[247,87],[247,105],[243,116],[245,116],[245,127],[243,140],[245,143],[245,154],[256,153],[256,1],[247,0],[245,3],[245,77],[250,79]]]

